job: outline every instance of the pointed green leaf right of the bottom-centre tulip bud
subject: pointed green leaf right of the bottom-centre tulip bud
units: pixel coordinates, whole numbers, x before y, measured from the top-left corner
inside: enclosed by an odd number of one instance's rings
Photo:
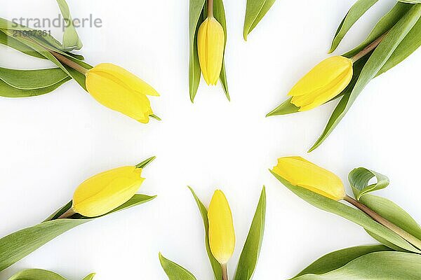
[[[248,231],[246,243],[244,244],[243,251],[241,251],[234,280],[250,280],[253,276],[256,265],[258,264],[263,234],[265,233],[265,218],[266,190],[265,187],[263,187],[258,208],[255,211],[253,222]]]

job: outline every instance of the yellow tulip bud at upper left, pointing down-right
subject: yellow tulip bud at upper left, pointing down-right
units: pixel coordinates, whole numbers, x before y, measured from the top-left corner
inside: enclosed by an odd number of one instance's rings
[[[147,95],[159,96],[153,87],[126,69],[103,63],[86,73],[86,89],[100,104],[148,123],[153,115]]]

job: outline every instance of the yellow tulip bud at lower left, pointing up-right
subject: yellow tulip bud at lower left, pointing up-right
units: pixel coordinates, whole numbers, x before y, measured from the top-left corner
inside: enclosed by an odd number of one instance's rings
[[[145,180],[142,169],[119,167],[87,179],[76,188],[72,208],[86,217],[107,214],[131,199]]]

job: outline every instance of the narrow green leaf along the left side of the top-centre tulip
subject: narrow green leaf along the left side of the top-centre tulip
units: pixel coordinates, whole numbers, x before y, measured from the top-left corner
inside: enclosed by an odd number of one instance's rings
[[[199,87],[201,69],[197,54],[197,30],[203,22],[203,6],[206,0],[190,0],[189,5],[189,92],[190,100],[194,102]]]

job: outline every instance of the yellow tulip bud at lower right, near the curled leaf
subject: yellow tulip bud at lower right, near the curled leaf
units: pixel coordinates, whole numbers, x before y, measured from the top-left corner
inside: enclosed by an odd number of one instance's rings
[[[312,190],[332,200],[342,200],[345,187],[338,176],[300,157],[279,158],[273,172],[294,186]]]

